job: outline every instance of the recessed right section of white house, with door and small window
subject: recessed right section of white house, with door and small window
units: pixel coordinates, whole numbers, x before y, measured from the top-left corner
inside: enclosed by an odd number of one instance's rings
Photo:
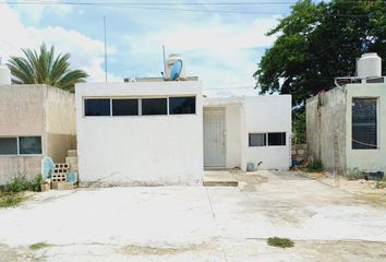
[[[204,99],[204,167],[288,169],[291,96]]]

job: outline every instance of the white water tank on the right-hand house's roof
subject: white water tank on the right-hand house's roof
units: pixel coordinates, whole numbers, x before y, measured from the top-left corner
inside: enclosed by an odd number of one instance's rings
[[[357,61],[357,75],[360,78],[382,76],[382,59],[376,52],[363,53]]]

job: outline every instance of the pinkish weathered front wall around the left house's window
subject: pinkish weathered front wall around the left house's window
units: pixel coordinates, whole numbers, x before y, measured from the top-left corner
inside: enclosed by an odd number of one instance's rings
[[[0,136],[44,135],[43,108],[43,85],[0,86]],[[0,155],[0,184],[16,176],[34,178],[40,174],[40,156]]]

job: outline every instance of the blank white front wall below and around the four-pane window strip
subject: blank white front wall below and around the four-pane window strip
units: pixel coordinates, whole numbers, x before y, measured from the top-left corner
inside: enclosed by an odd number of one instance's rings
[[[203,178],[202,86],[197,81],[76,85],[80,181],[197,183]],[[196,96],[195,115],[84,117],[85,97]]]

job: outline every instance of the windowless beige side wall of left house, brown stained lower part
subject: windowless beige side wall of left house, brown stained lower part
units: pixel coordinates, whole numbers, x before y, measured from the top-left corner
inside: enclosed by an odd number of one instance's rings
[[[75,96],[47,86],[45,92],[46,155],[64,163],[67,151],[76,148]]]

